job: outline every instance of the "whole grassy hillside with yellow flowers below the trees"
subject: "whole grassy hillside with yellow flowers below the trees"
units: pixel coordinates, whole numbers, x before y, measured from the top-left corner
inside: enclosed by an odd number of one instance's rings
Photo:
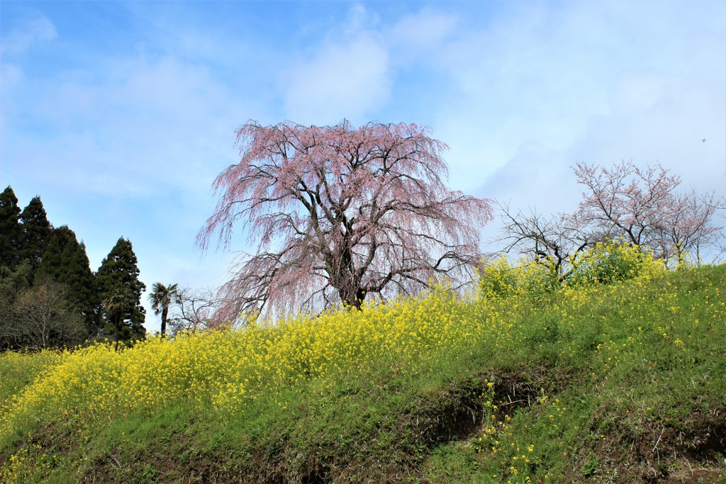
[[[0,356],[0,480],[724,482],[726,266],[254,332]]]

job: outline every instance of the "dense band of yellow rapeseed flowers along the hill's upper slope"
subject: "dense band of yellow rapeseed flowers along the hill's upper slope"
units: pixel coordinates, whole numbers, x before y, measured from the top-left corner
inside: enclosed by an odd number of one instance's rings
[[[616,246],[613,250],[629,270],[635,267],[632,261],[643,259],[635,249]],[[603,258],[603,253],[600,248],[586,257],[592,261]],[[644,281],[662,266],[645,259],[648,270],[640,273]],[[0,437],[30,418],[104,419],[143,414],[177,400],[234,413],[260,393],[276,392],[301,380],[357,372],[379,361],[416,371],[417,365],[439,350],[482,342],[494,347],[510,344],[521,337],[511,317],[518,305],[510,304],[505,317],[500,300],[542,291],[547,277],[542,266],[523,261],[510,266],[502,258],[484,269],[478,295],[457,297],[440,286],[417,299],[370,303],[363,311],[329,311],[315,318],[301,315],[277,324],[250,324],[174,340],[151,338],[118,351],[104,343],[49,351],[46,371],[1,403]],[[561,290],[563,316],[567,308],[589,299],[587,287]],[[4,358],[20,357],[9,353]]]

